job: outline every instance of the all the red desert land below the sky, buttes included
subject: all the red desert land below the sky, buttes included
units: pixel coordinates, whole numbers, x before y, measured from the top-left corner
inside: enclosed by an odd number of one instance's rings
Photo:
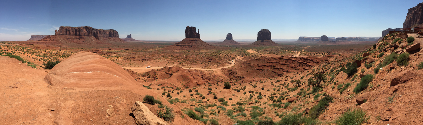
[[[283,41],[269,27],[254,41],[232,31],[203,41],[209,31],[190,25],[179,27],[184,39],[164,41],[60,26],[3,41],[0,124],[420,125],[416,4],[382,36]]]

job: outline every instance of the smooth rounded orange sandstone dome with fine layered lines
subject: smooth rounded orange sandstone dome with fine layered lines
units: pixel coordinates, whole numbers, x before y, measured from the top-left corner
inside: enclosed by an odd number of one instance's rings
[[[77,52],[58,63],[45,76],[52,86],[94,88],[137,85],[118,64],[92,52]]]

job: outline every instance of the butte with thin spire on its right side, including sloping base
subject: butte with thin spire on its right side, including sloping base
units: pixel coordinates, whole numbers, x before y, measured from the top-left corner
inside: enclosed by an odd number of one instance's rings
[[[200,39],[200,29],[198,29],[198,33],[197,33],[195,27],[187,26],[185,28],[185,39],[169,47],[179,48],[179,49],[191,49],[191,48],[206,48],[206,47],[213,47],[213,46]]]

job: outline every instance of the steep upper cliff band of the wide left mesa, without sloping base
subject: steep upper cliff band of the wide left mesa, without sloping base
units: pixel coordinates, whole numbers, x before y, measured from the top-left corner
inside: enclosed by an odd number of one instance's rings
[[[94,29],[90,26],[60,26],[59,30],[55,31],[56,35],[69,36],[94,36],[99,37],[119,37],[118,31],[113,29]]]

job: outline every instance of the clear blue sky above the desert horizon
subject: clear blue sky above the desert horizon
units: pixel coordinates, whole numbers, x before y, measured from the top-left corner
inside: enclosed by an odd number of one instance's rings
[[[421,0],[0,0],[0,41],[52,35],[60,26],[114,29],[120,38],[184,39],[185,27],[201,39],[272,39],[299,36],[382,36],[401,28]]]

